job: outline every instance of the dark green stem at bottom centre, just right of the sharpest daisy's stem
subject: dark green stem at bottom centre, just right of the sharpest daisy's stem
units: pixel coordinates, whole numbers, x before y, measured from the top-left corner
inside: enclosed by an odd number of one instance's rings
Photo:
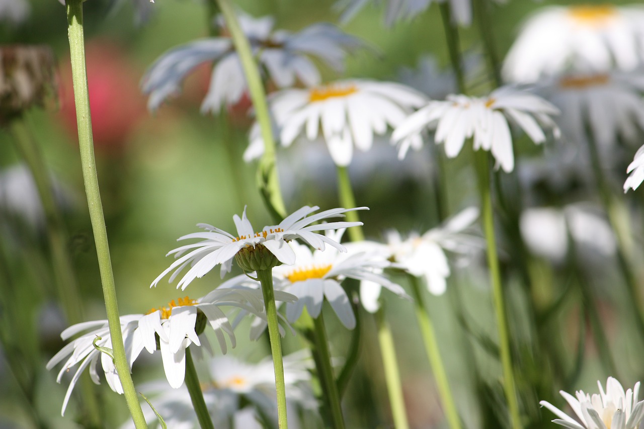
[[[316,354],[319,358],[317,363],[317,370],[319,374],[320,383],[322,385],[324,401],[327,404],[331,421],[334,429],[344,429],[345,419],[342,415],[342,407],[340,404],[340,396],[337,392],[336,377],[334,376],[333,367],[331,365],[331,353],[328,350],[327,330],[324,325],[324,318],[322,313],[313,319],[313,334],[316,344]]]

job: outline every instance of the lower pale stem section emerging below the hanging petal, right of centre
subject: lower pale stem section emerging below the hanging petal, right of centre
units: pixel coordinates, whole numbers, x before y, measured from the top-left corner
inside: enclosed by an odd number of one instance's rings
[[[384,307],[375,313],[375,322],[378,329],[378,343],[383,357],[384,379],[387,383],[389,403],[392,406],[393,426],[396,429],[409,429],[407,411],[404,406],[403,388],[398,372],[398,362],[393,348],[392,330],[384,317]]]

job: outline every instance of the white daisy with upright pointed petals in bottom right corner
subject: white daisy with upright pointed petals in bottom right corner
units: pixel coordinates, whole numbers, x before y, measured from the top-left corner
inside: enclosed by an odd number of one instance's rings
[[[570,429],[637,429],[644,417],[644,401],[638,401],[639,381],[635,387],[624,392],[620,382],[608,377],[604,391],[600,381],[597,382],[600,393],[592,396],[583,390],[575,392],[575,396],[560,390],[559,393],[573,408],[579,421],[565,414],[559,408],[547,401],[541,401],[553,412],[558,419],[553,423]]]

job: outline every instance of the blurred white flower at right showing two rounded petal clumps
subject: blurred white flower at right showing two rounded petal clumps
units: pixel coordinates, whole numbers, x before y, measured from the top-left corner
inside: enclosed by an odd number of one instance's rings
[[[609,256],[616,250],[611,226],[601,214],[585,205],[526,209],[521,214],[520,229],[530,251],[558,263],[567,256],[568,233],[578,244],[578,252],[594,251]]]

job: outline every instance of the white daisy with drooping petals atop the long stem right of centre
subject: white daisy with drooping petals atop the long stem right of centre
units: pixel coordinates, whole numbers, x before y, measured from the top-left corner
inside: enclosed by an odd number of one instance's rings
[[[446,155],[454,158],[465,140],[473,138],[475,150],[490,151],[497,164],[509,172],[515,158],[508,120],[539,144],[545,141],[543,128],[553,129],[558,137],[559,129],[551,118],[557,113],[544,99],[504,86],[484,98],[450,95],[445,101],[432,100],[404,120],[393,131],[392,140],[400,143],[399,156],[403,158],[409,148],[420,147],[418,139],[424,128],[436,129],[435,142],[444,143]]]

